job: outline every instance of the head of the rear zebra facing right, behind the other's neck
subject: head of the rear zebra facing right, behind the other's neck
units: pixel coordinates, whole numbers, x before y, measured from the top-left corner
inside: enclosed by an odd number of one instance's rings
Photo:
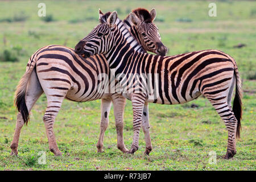
[[[139,40],[145,51],[165,56],[168,49],[161,42],[158,27],[153,23],[156,17],[155,9],[148,12],[138,8],[130,13],[126,20],[131,24],[131,33]]]

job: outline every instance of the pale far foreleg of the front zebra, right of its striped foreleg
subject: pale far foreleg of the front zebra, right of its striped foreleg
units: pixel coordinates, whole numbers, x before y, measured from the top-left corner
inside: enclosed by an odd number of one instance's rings
[[[148,116],[148,103],[145,102],[144,107],[143,107],[143,115],[142,115],[142,129],[144,133],[144,139],[146,142],[146,150],[144,151],[145,155],[150,154],[152,150],[152,144],[151,144],[151,139],[150,139],[150,124],[149,124],[149,116]]]

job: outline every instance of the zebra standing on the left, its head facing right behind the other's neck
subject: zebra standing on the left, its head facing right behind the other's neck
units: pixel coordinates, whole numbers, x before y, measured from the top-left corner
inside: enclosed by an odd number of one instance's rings
[[[148,13],[144,9],[136,9],[133,12],[140,16],[139,19],[141,20],[144,14],[150,15],[152,20],[156,15],[155,9],[152,9],[151,13]],[[107,13],[106,15],[109,14]],[[106,15],[100,11],[100,20]],[[120,24],[119,28],[125,28],[126,31],[131,31],[131,34],[136,35],[138,42],[143,43],[143,47],[141,47],[133,39],[133,48],[139,52],[145,52],[144,50],[146,50],[165,55],[167,48],[160,42],[158,28],[151,26],[152,23],[149,22],[140,26],[138,25],[138,28],[148,27],[151,30],[146,32],[150,38],[144,39],[145,35],[140,36],[137,28],[133,27],[132,19],[134,19],[134,16],[131,17],[128,15],[125,23]],[[133,30],[131,30],[131,27],[133,27]],[[130,35],[130,33],[128,34],[127,32],[127,35]],[[144,43],[144,41],[147,42]],[[115,126],[117,129],[117,146],[122,152],[127,152],[128,150],[123,142],[123,111],[126,100],[118,93],[98,92],[98,75],[101,73],[109,75],[108,60],[105,55],[95,55],[85,59],[83,56],[77,55],[72,48],[64,46],[51,45],[38,49],[30,57],[26,72],[16,88],[15,104],[19,113],[17,115],[14,139],[11,143],[11,155],[18,154],[20,130],[24,123],[27,124],[29,112],[43,92],[47,96],[47,109],[43,121],[46,127],[49,150],[53,154],[61,155],[57,147],[55,134],[53,133],[53,124],[64,98],[76,102],[101,99],[101,133],[97,143],[98,152],[103,151],[104,133],[108,127],[109,110],[113,102]],[[144,110],[148,113],[147,105]],[[143,126],[146,128],[144,129],[145,132],[147,132],[145,135],[149,137],[147,119],[148,117],[143,118]]]

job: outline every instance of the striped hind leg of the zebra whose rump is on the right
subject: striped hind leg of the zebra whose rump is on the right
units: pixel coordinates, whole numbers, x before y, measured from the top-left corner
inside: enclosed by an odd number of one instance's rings
[[[209,99],[210,100],[210,99]],[[212,102],[212,100],[210,100]],[[236,154],[236,131],[237,131],[237,119],[227,102],[212,102],[212,105],[220,115],[221,119],[226,125],[228,130],[228,147],[224,159],[233,158]]]

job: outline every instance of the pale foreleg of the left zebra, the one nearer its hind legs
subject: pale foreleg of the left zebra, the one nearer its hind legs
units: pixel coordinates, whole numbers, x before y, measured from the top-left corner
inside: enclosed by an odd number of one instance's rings
[[[105,131],[109,125],[109,111],[112,101],[107,98],[101,100],[101,133],[97,143],[98,152],[103,152],[103,140]]]

